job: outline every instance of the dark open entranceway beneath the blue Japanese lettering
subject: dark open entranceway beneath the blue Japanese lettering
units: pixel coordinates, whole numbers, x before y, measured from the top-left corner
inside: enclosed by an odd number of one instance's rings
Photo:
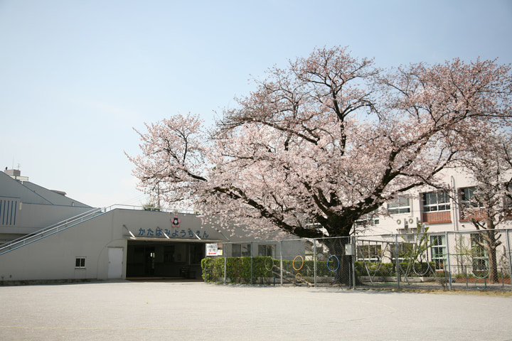
[[[204,243],[128,241],[127,278],[201,279]]]

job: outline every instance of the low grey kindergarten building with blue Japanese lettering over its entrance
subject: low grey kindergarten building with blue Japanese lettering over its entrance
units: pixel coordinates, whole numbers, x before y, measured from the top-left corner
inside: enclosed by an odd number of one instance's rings
[[[0,172],[0,283],[112,278],[201,279],[208,245],[247,256],[244,236],[203,224],[194,212],[91,207],[20,171]],[[275,256],[279,244],[253,245]],[[268,254],[268,252],[271,254]]]

